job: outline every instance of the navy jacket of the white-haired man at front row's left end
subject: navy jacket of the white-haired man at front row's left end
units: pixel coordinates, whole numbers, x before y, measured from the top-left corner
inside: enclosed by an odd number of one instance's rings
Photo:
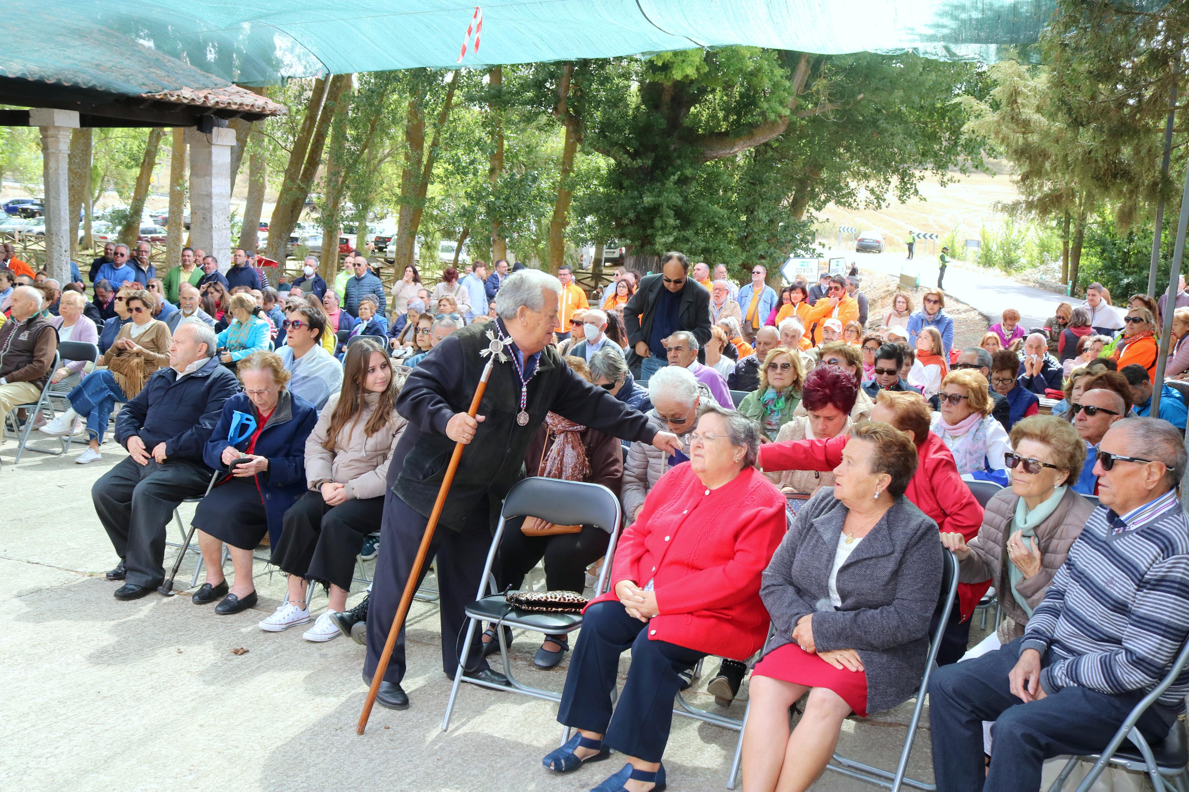
[[[166,457],[201,462],[224,403],[238,392],[239,380],[218,357],[181,382],[172,368],[159,368],[115,417],[115,442],[126,448],[138,435],[150,451],[164,443]]]

